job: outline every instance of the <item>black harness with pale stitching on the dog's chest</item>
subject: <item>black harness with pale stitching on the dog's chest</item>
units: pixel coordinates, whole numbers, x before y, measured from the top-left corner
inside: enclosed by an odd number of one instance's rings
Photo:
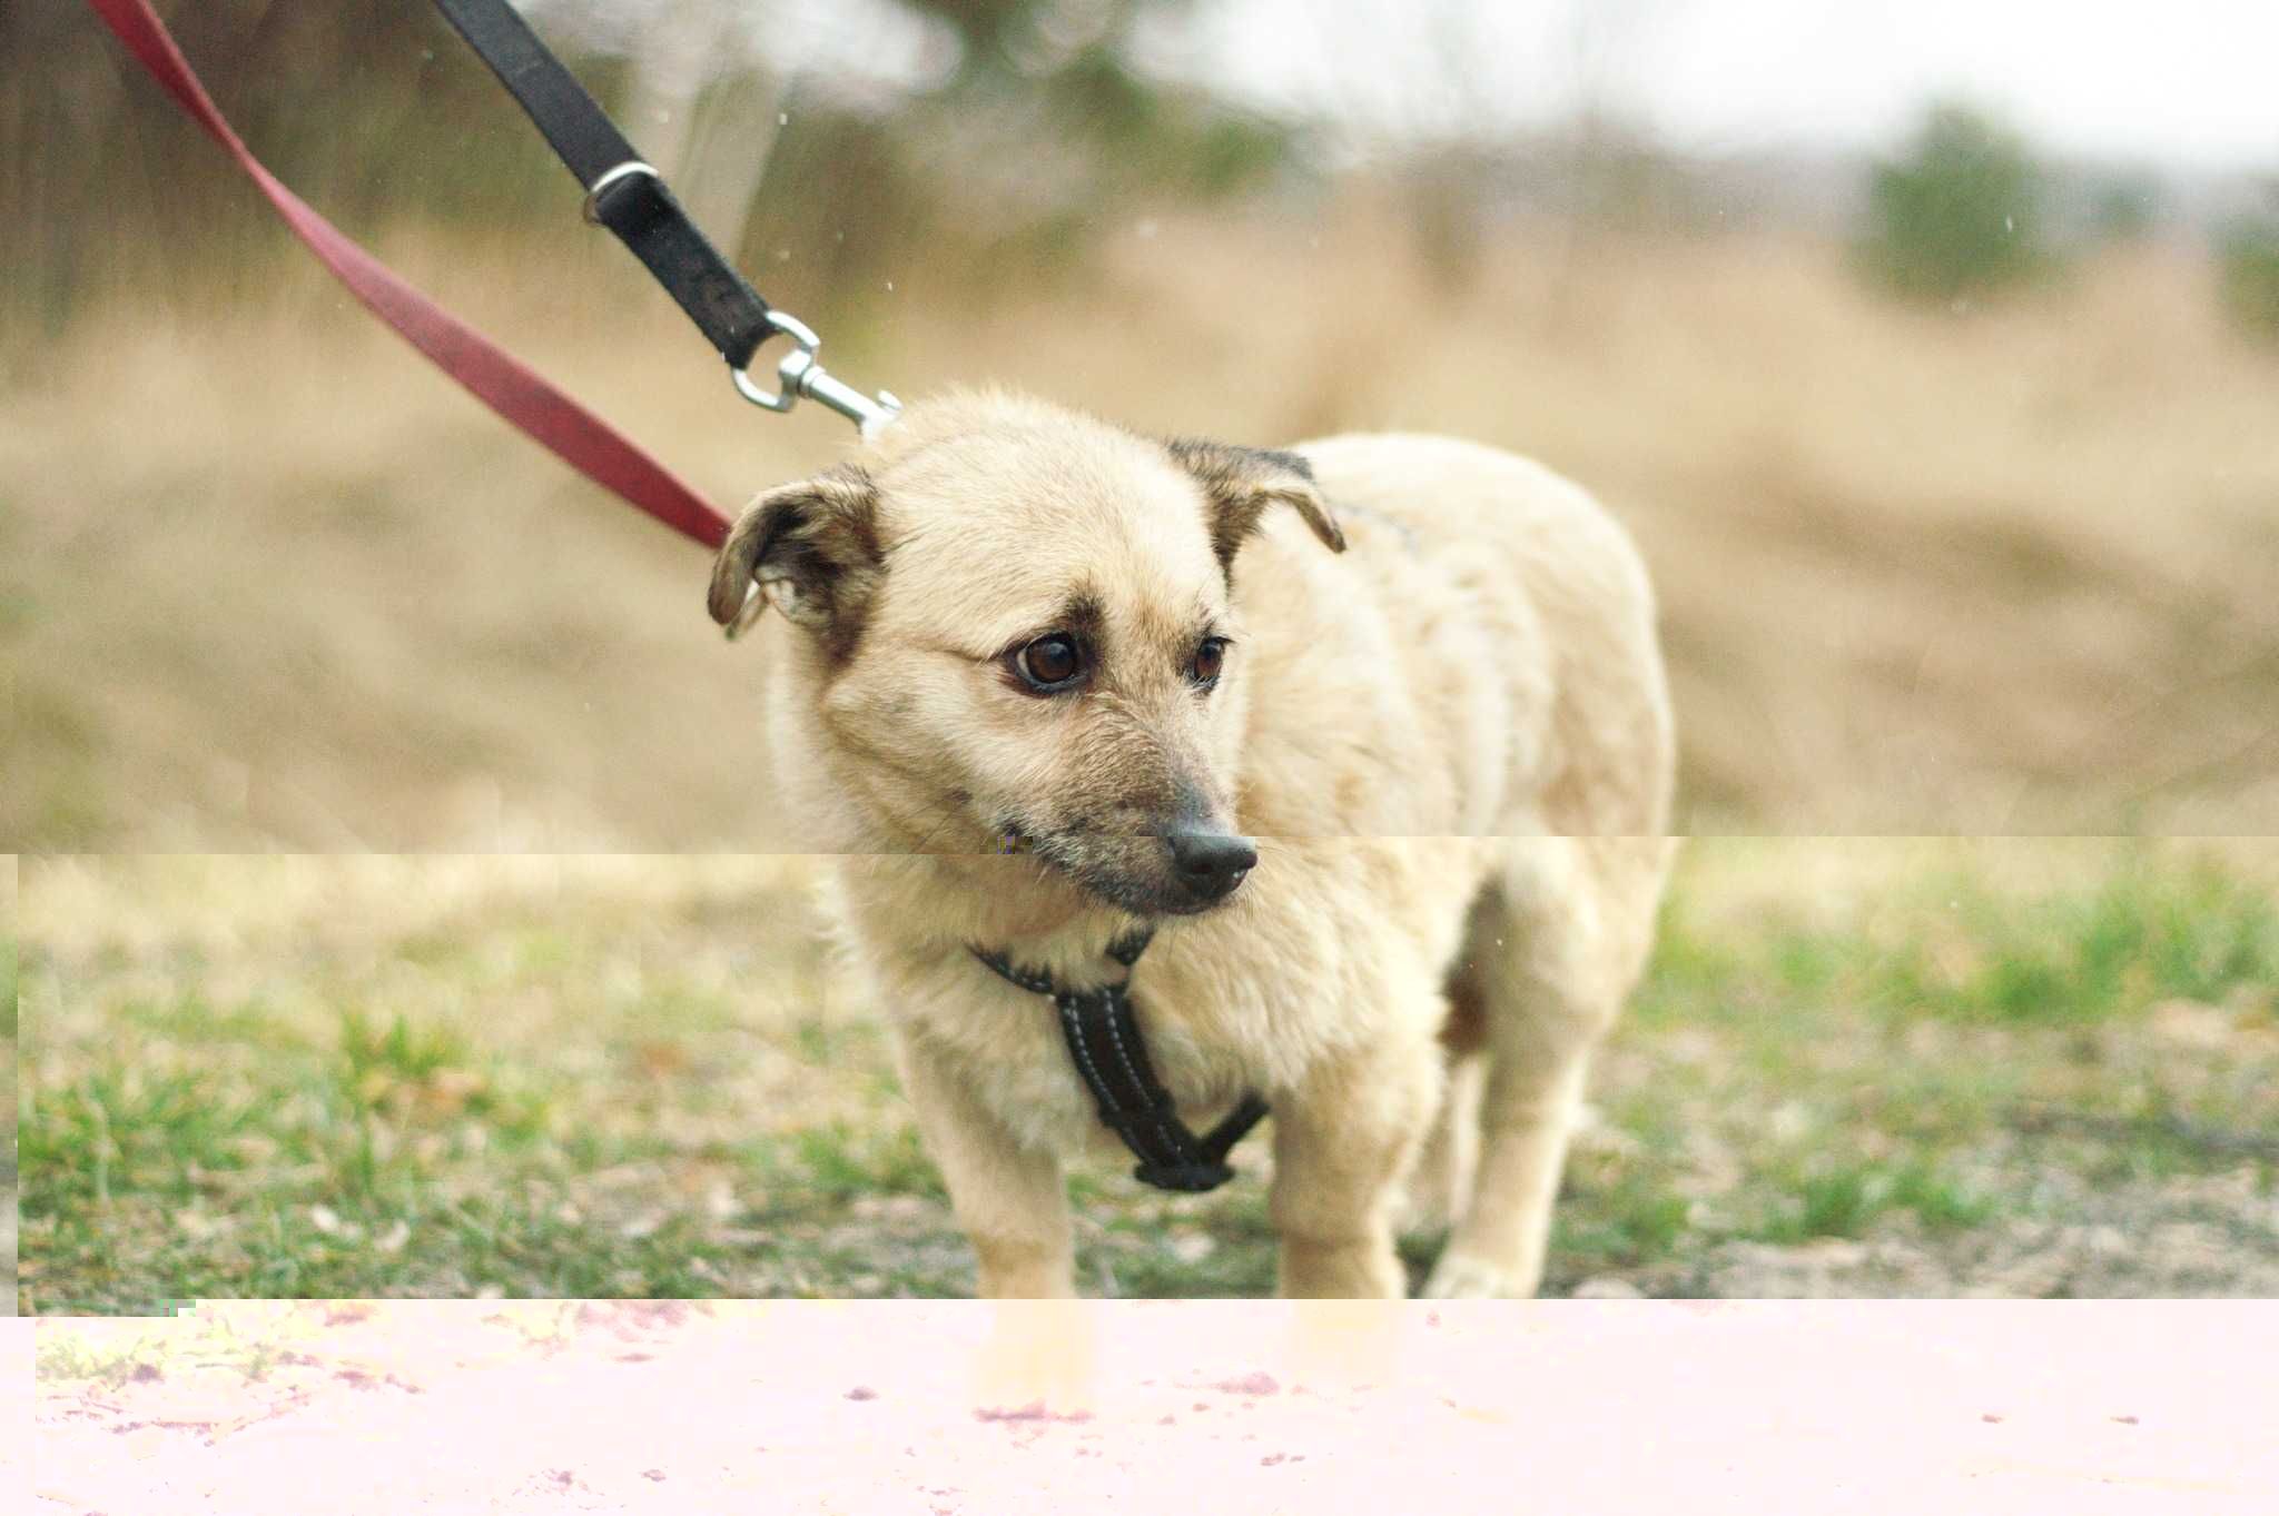
[[[1108,956],[1130,970],[1151,936],[1142,929],[1117,938],[1108,945]],[[1149,1063],[1128,974],[1096,990],[1071,990],[1051,974],[1014,967],[1005,954],[975,947],[973,956],[1005,983],[1053,997],[1060,1031],[1069,1040],[1069,1058],[1076,1061],[1078,1077],[1098,1102],[1101,1122],[1124,1138],[1124,1145],[1140,1159],[1133,1179],[1153,1184],[1158,1190],[1201,1195],[1235,1177],[1235,1170],[1226,1165],[1226,1154],[1267,1113],[1267,1102],[1249,1090],[1226,1120],[1203,1136],[1194,1136],[1178,1120],[1171,1093],[1162,1088],[1162,1081],[1155,1079],[1155,1065]]]

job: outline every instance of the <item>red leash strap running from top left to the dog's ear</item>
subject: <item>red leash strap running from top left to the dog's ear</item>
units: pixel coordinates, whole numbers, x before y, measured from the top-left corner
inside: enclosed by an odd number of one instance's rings
[[[695,489],[677,480],[661,462],[618,435],[606,421],[538,378],[492,346],[417,289],[397,278],[381,259],[365,253],[330,221],[285,189],[273,173],[239,141],[223,121],[198,75],[173,36],[160,23],[148,0],[87,0],[119,41],[128,46],[166,93],[230,150],[237,166],[260,184],[262,193],[324,259],[324,266],[362,300],[371,314],[397,328],[406,341],[426,353],[428,362],[465,385],[474,398],[522,428],[572,469],[604,489],[631,501],[684,537],[704,546],[727,539],[727,517],[713,510]]]

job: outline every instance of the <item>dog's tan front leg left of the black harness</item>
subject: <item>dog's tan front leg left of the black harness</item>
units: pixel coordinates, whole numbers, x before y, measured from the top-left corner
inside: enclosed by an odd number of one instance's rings
[[[902,1040],[902,1086],[925,1150],[950,1188],[957,1225],[973,1243],[985,1300],[1076,1295],[1076,1252],[1060,1156],[1026,1147],[955,1070]]]

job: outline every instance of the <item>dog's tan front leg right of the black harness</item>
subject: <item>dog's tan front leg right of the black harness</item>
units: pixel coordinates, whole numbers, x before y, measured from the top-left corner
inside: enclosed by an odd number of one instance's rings
[[[1438,1049],[1379,1047],[1317,1068],[1274,1095],[1279,1291],[1315,1300],[1399,1300],[1392,1206],[1438,1097]]]

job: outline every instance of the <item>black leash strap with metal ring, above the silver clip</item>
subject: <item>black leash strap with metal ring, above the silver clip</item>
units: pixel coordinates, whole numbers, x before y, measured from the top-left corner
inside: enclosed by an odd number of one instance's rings
[[[743,373],[759,344],[777,330],[759,291],[704,239],[656,171],[640,162],[515,7],[506,0],[435,0],[435,9],[490,64],[586,187],[586,214],[647,264],[727,366]]]

